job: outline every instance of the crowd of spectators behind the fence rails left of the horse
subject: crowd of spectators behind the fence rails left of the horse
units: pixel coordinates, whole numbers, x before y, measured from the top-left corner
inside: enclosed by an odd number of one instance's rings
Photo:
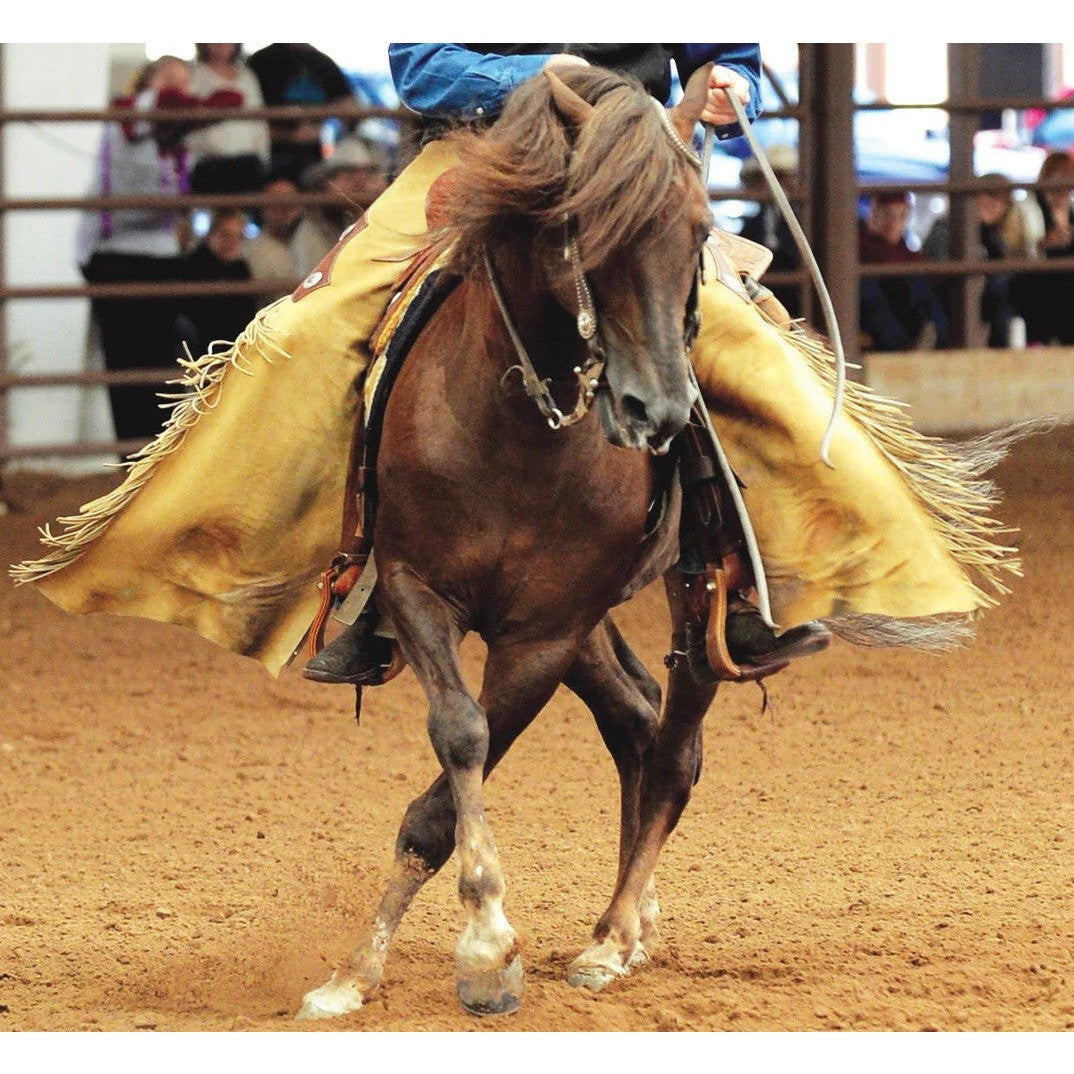
[[[198,44],[194,62],[163,56],[146,63],[113,102],[130,119],[105,125],[89,197],[190,194],[191,208],[87,209],[77,261],[91,285],[257,280],[264,292],[91,302],[95,337],[111,372],[174,368],[185,351],[201,354],[233,340],[258,308],[287,294],[384,189],[382,147],[352,128],[322,141],[321,122],[270,125],[235,118],[236,108],[353,101],[339,67],[313,45],[273,44],[246,57],[241,44]],[[150,111],[211,108],[198,124],[149,122]],[[303,192],[333,193],[337,205],[304,207]],[[198,208],[199,194],[266,194],[249,213]],[[207,221],[207,223],[206,223]],[[268,281],[272,281],[271,285]],[[168,363],[162,366],[161,363]],[[119,439],[160,430],[157,386],[110,388]]]

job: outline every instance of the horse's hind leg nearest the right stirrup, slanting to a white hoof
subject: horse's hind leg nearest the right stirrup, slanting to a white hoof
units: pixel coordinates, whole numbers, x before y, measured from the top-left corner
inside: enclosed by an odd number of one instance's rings
[[[682,635],[681,577],[665,577],[674,624],[674,648],[685,648]],[[608,910],[593,931],[593,943],[571,966],[572,984],[601,988],[630,968],[641,945],[644,917],[655,908],[653,871],[668,836],[679,822],[697,782],[701,759],[701,721],[715,696],[714,686],[699,686],[685,662],[671,670],[664,716],[640,758],[637,819],[629,848]]]

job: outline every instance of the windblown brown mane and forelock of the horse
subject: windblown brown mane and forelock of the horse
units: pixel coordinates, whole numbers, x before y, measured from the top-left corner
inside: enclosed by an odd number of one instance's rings
[[[690,163],[641,84],[592,67],[557,74],[594,105],[577,137],[545,77],[516,90],[489,129],[449,135],[461,168],[445,215],[462,271],[505,234],[561,228],[568,217],[578,229],[583,266],[594,268],[685,204],[677,194]]]

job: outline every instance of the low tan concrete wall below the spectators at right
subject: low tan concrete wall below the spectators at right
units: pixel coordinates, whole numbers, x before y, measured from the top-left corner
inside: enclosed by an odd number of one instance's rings
[[[910,404],[923,433],[976,433],[1027,418],[1074,421],[1074,347],[870,354],[866,380]]]

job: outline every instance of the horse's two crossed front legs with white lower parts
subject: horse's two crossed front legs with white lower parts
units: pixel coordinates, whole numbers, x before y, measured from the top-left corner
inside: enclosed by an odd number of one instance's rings
[[[444,775],[407,811],[395,875],[381,902],[369,946],[360,952],[349,977],[345,971],[342,976],[337,973],[323,989],[362,992],[371,984],[375,987],[371,977],[379,982],[398,919],[424,880],[450,855],[447,833],[453,819],[459,895],[468,915],[455,947],[459,997],[476,1014],[507,1013],[518,1007],[522,962],[504,912],[506,885],[484,815],[482,782],[552,696],[578,639],[532,645],[493,641],[479,703],[459,669],[463,632],[455,611],[405,567],[386,571],[382,585],[386,610],[404,655],[429,698],[430,739]],[[319,1002],[323,989],[307,996],[307,1003]]]

